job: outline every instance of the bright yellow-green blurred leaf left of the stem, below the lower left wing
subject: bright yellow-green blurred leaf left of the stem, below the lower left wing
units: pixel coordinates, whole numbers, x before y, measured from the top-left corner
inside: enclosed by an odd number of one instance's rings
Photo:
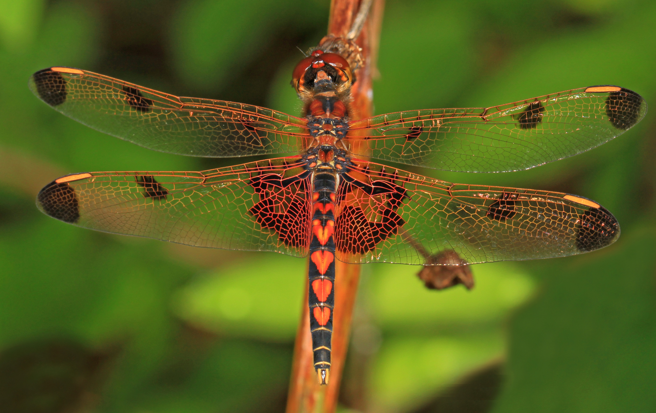
[[[245,258],[186,286],[174,300],[176,313],[224,334],[293,341],[306,260],[266,253]]]

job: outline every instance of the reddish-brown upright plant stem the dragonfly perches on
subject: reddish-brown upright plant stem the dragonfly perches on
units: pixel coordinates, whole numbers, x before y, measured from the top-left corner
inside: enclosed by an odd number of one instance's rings
[[[366,1],[366,0],[363,0]],[[328,35],[322,39],[342,37],[346,39],[352,29],[360,8],[360,0],[333,0],[328,24]],[[375,71],[375,58],[378,51],[380,23],[382,22],[383,0],[374,0],[369,16],[356,38],[361,48],[363,64],[356,72],[357,80],[352,87],[352,113],[350,119],[357,120],[372,115],[372,83]],[[358,294],[359,265],[335,262],[335,311],[333,313],[333,338],[330,381],[319,385],[312,358],[312,338],[310,336],[310,309],[308,308],[308,281],[306,280],[302,314],[294,348],[294,360],[287,413],[333,413],[337,408],[339,385],[348,349],[351,317]]]

